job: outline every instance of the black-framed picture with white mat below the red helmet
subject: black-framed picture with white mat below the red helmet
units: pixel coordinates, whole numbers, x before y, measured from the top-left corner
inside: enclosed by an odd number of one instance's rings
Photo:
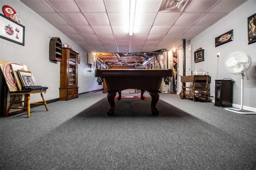
[[[0,14],[0,38],[25,45],[25,26]]]

